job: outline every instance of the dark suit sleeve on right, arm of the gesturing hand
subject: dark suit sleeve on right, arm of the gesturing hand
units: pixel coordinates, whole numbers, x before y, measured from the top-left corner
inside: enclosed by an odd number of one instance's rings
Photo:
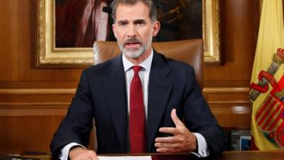
[[[185,125],[190,132],[202,134],[210,154],[219,154],[226,147],[226,136],[202,96],[193,68],[187,73],[186,85],[183,97]]]

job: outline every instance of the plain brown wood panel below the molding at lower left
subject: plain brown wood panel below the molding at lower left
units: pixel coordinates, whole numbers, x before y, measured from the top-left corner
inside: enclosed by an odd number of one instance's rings
[[[49,151],[60,116],[0,116],[0,154]]]

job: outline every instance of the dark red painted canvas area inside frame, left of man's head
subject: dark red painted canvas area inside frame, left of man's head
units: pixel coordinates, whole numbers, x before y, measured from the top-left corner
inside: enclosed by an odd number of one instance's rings
[[[56,0],[55,47],[92,47],[94,41],[106,41],[108,14],[103,12],[108,0]]]

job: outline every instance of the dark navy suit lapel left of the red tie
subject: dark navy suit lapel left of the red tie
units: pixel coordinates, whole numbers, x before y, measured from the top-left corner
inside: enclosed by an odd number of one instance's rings
[[[114,62],[107,69],[108,82],[104,86],[104,95],[107,96],[107,103],[111,118],[119,136],[121,146],[126,149],[127,137],[127,105],[124,67],[121,55],[114,58]]]

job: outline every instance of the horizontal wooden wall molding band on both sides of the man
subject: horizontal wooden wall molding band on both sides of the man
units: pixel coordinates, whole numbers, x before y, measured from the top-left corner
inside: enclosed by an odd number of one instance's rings
[[[75,91],[76,88],[0,89],[0,95],[5,97],[0,102],[0,116],[65,115],[70,105],[70,95],[74,95]],[[249,107],[250,104],[246,99],[249,87],[205,87],[203,93],[208,97],[212,110],[216,107],[219,111],[221,108]],[[239,96],[228,99],[229,94]],[[58,102],[62,99],[65,101]]]

